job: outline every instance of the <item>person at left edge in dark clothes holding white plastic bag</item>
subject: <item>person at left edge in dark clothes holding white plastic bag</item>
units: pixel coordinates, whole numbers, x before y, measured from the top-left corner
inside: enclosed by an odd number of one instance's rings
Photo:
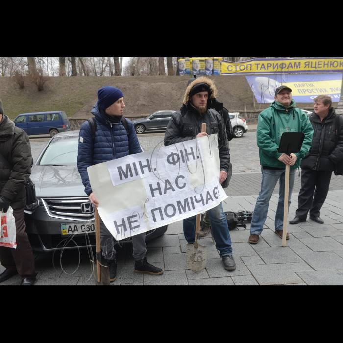
[[[31,146],[27,134],[15,127],[14,123],[4,115],[0,100],[0,212],[7,212],[9,208],[13,209],[17,231],[16,249],[6,247],[8,244],[1,244],[0,238],[0,262],[2,267],[6,268],[0,274],[0,283],[17,274],[22,278],[21,286],[33,286],[36,282],[37,273],[32,247],[25,232],[24,214],[25,184],[31,174],[31,161]],[[13,166],[12,170],[8,165]],[[11,212],[11,210],[8,211],[9,216]],[[5,225],[4,229],[7,230]],[[4,232],[2,232],[2,238],[4,238]]]

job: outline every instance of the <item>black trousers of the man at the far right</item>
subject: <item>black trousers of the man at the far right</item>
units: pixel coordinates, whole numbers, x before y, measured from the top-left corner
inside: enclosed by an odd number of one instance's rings
[[[299,208],[296,211],[296,217],[306,220],[309,212],[311,217],[320,217],[320,210],[329,192],[331,176],[332,172],[302,170]]]

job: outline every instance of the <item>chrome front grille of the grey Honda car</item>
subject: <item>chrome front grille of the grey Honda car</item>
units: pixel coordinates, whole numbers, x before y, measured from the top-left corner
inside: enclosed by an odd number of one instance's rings
[[[50,217],[81,222],[94,221],[94,210],[88,197],[44,198],[42,201]]]

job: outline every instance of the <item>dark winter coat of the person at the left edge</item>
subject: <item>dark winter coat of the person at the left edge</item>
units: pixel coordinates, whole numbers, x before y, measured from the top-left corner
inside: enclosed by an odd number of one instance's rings
[[[31,175],[30,141],[22,129],[3,116],[0,126],[0,153],[13,165],[12,171],[0,162],[0,196],[10,200],[13,209],[26,206],[25,184]]]

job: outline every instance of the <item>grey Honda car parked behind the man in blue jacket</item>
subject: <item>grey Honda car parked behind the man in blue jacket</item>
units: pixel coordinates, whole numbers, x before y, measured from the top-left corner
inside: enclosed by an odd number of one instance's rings
[[[32,167],[39,206],[25,209],[26,232],[38,252],[86,247],[86,234],[95,246],[93,206],[88,200],[77,170],[79,131],[57,134],[43,149]],[[144,151],[142,147],[142,151]],[[147,241],[163,235],[168,226],[147,232]],[[75,245],[77,244],[77,246]],[[130,241],[123,241],[129,244]]]

